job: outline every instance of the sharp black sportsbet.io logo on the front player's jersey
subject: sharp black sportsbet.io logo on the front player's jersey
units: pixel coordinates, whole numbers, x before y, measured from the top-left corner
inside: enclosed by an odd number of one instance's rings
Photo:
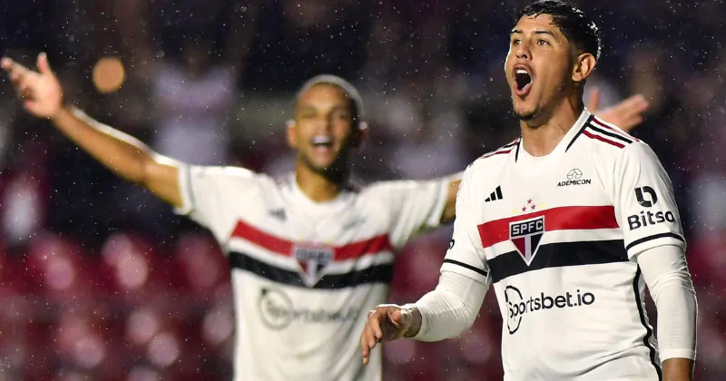
[[[527,314],[552,308],[577,308],[590,306],[595,302],[592,292],[577,289],[574,292],[567,291],[561,295],[547,295],[540,292],[539,295],[526,298],[522,291],[514,286],[505,288],[505,303],[508,310],[506,327],[509,334],[514,335],[522,325],[522,319]]]

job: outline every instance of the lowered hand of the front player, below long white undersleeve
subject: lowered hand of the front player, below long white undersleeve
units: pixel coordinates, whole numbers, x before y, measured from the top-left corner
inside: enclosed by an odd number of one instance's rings
[[[414,321],[413,312],[395,304],[383,304],[368,312],[368,321],[360,334],[360,349],[363,351],[363,364],[370,361],[370,351],[378,343],[393,341],[405,336]],[[420,325],[420,324],[419,324]],[[416,333],[411,332],[411,336]]]

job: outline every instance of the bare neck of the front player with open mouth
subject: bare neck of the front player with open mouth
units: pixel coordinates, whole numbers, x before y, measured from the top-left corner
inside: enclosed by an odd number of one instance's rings
[[[568,97],[554,107],[544,120],[520,121],[525,151],[535,157],[552,153],[564,135],[573,128],[583,110],[581,97]]]

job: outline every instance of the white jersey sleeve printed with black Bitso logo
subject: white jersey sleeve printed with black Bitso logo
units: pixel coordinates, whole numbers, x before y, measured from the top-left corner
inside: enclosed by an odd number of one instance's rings
[[[634,142],[623,149],[613,185],[615,216],[628,258],[662,245],[685,250],[671,179],[647,144]]]

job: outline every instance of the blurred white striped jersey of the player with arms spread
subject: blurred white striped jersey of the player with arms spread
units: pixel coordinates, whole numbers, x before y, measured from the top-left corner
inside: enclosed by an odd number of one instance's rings
[[[388,181],[314,202],[294,176],[184,167],[177,212],[229,255],[236,312],[234,379],[381,378],[362,365],[360,329],[388,298],[398,249],[439,224],[447,181]]]

